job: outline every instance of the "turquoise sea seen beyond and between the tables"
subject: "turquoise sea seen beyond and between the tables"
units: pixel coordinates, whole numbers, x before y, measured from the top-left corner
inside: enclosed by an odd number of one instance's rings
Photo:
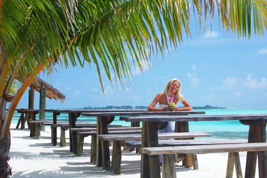
[[[197,110],[195,110],[197,111]],[[207,109],[206,114],[267,114],[267,110],[262,109]],[[15,112],[12,124],[17,125],[20,113]],[[37,115],[37,119],[39,115]],[[46,120],[52,121],[53,115],[46,112]],[[68,114],[60,114],[57,121],[68,121]],[[78,117],[78,121],[86,121],[96,123],[96,117]],[[129,122],[120,121],[119,117],[115,117],[111,124],[130,126]],[[247,138],[249,127],[241,124],[239,121],[209,121],[209,122],[189,122],[190,132],[206,132],[211,133],[213,138]]]

